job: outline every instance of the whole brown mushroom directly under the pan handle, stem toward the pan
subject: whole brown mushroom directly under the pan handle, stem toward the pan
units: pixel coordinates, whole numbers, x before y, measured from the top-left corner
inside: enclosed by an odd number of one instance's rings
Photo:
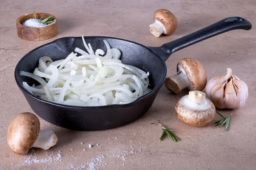
[[[207,74],[204,66],[195,59],[184,58],[177,64],[177,73],[167,77],[166,88],[174,94],[179,94],[183,88],[190,91],[202,91],[207,84]]]

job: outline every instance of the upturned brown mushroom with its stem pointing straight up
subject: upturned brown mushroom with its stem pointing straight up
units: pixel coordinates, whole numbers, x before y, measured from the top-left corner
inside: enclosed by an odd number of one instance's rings
[[[190,91],[175,105],[178,119],[189,126],[199,127],[209,124],[216,115],[214,104],[201,91]]]

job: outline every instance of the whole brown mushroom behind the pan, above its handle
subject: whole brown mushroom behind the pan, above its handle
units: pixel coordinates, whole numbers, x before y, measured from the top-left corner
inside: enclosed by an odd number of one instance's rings
[[[171,35],[177,29],[177,19],[173,13],[167,9],[158,9],[155,11],[154,23],[151,24],[150,33],[159,37],[162,33],[165,35]]]

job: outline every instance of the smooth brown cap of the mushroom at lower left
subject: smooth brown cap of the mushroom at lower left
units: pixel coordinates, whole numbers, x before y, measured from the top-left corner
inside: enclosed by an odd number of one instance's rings
[[[32,113],[19,113],[14,117],[7,130],[7,144],[13,153],[25,155],[36,141],[40,122]]]

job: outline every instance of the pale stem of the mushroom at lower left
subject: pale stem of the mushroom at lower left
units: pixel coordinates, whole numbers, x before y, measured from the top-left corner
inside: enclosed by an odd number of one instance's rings
[[[39,135],[35,141],[35,143],[31,146],[34,148],[42,148],[47,150],[52,146],[56,145],[58,141],[57,136],[55,135],[53,130],[40,130]]]

